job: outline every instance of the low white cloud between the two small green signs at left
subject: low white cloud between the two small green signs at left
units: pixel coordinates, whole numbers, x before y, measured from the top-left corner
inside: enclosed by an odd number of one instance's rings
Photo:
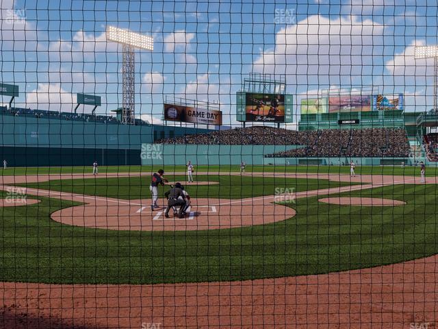
[[[26,108],[71,112],[74,103],[73,95],[60,84],[38,84],[38,88],[26,93]]]

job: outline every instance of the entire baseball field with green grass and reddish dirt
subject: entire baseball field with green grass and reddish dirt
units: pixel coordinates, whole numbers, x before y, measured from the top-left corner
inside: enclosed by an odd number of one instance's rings
[[[186,183],[164,167],[191,197],[181,219],[164,217],[168,185],[151,210],[158,169],[0,173],[5,328],[434,319],[435,169],[422,184],[417,167],[206,166]]]

